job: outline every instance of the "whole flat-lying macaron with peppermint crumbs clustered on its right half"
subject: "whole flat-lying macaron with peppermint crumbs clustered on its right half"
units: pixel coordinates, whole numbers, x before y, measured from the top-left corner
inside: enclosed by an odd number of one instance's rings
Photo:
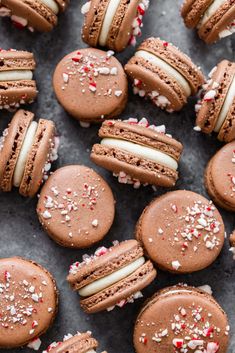
[[[192,273],[216,260],[225,230],[211,201],[192,191],[177,190],[145,208],[136,226],[136,238],[159,268]]]

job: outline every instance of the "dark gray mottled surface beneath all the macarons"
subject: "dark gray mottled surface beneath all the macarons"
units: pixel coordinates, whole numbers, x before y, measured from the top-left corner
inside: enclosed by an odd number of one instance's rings
[[[84,163],[98,170],[110,183],[117,199],[115,223],[107,235],[104,245],[112,240],[128,239],[133,236],[135,223],[143,208],[153,197],[164,192],[153,192],[150,187],[134,190],[130,186],[117,183],[109,172],[92,165],[89,160],[89,149],[97,139],[98,126],[82,129],[70,118],[55,100],[51,75],[57,62],[69,52],[84,47],[80,39],[82,16],[80,2],[71,1],[71,5],[60,18],[59,26],[49,34],[31,34],[14,29],[8,20],[1,20],[0,47],[32,50],[37,58],[36,79],[40,94],[35,104],[30,106],[38,117],[46,117],[56,122],[61,135],[60,158],[57,167],[66,164]],[[152,0],[151,7],[145,17],[142,39],[148,36],[160,36],[171,41],[189,54],[201,65],[207,74],[221,59],[234,59],[235,36],[214,46],[206,46],[196,34],[184,28],[179,16],[179,0]],[[167,15],[164,15],[164,12]],[[118,55],[123,63],[134,52],[134,48]],[[143,116],[155,124],[164,123],[167,131],[179,138],[184,144],[181,160],[181,178],[177,188],[190,189],[206,195],[203,187],[203,171],[207,161],[220,147],[219,142],[210,136],[196,133],[194,126],[193,101],[179,114],[168,115],[161,112],[149,102],[135,98],[130,100],[122,117]],[[1,112],[0,131],[10,121],[11,114]],[[60,307],[54,326],[42,337],[42,347],[46,348],[54,340],[60,340],[64,334],[77,330],[92,330],[100,341],[102,349],[109,353],[133,353],[132,330],[134,320],[143,301],[127,305],[124,309],[116,309],[111,313],[100,313],[87,316],[79,307],[78,296],[69,289],[66,274],[69,265],[80,259],[84,251],[67,250],[57,246],[42,231],[35,212],[37,200],[27,200],[18,195],[0,195],[0,257],[20,255],[33,259],[47,267],[57,279],[60,289]],[[234,215],[222,212],[227,233],[235,228]],[[228,353],[235,352],[235,266],[228,252],[228,240],[221,256],[208,269],[187,276],[175,276],[159,272],[155,283],[144,291],[145,297],[152,295],[157,289],[178,282],[193,285],[210,284],[215,298],[228,313],[231,323],[231,345]],[[90,249],[91,253],[94,249]],[[11,350],[17,353],[19,350]],[[30,352],[23,349],[24,352]],[[167,352],[166,352],[167,353]]]

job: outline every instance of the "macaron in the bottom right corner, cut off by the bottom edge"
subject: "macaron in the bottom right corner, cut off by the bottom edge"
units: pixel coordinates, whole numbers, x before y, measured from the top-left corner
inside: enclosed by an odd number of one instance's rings
[[[134,329],[136,353],[225,353],[228,343],[224,310],[210,294],[186,285],[157,292]]]

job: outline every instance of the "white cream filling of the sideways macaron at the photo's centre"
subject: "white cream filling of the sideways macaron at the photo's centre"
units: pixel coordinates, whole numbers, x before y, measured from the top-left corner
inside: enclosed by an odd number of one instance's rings
[[[151,147],[145,147],[142,145],[137,145],[136,143],[133,143],[133,142],[118,140],[114,138],[104,138],[101,141],[101,145],[120,148],[127,152],[133,153],[136,156],[150,159],[151,161],[164,165],[168,168],[171,168],[174,170],[178,169],[178,163],[174,158],[168,156],[163,152],[155,150]]]

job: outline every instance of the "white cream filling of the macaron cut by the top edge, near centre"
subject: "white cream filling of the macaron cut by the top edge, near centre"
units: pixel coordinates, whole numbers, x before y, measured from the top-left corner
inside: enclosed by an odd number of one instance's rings
[[[99,45],[101,46],[105,46],[107,43],[109,31],[120,3],[121,0],[110,0],[109,2],[99,36]]]

